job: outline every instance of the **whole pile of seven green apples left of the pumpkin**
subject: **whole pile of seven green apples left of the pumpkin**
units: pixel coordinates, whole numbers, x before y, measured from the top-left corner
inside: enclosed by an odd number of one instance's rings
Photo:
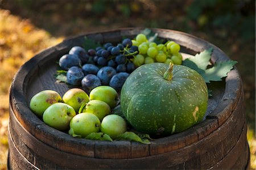
[[[127,130],[125,119],[112,114],[117,102],[118,93],[110,86],[98,86],[89,96],[82,89],[72,88],[62,98],[54,90],[43,90],[31,98],[30,109],[47,125],[72,136],[85,138],[102,132],[117,139]]]

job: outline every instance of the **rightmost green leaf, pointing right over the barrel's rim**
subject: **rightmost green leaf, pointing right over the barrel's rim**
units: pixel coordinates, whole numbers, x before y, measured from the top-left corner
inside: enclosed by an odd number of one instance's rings
[[[233,69],[237,61],[229,60],[214,64],[212,68],[206,69],[202,74],[205,82],[221,81],[222,77],[228,76],[228,72]]]

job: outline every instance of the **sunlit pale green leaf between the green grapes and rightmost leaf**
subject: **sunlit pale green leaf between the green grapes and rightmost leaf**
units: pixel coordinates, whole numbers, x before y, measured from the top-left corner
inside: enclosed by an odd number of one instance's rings
[[[209,65],[210,56],[212,55],[213,48],[204,50],[203,52],[197,53],[195,57],[190,57],[183,61],[183,65],[194,69],[195,71],[201,73],[207,69]]]

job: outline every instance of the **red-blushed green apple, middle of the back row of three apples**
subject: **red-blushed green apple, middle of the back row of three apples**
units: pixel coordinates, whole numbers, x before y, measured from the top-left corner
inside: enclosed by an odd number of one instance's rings
[[[73,88],[69,89],[63,95],[63,101],[64,103],[67,103],[69,106],[73,107],[76,110],[76,113],[78,113],[82,103],[89,102],[89,96],[84,92],[84,90]]]

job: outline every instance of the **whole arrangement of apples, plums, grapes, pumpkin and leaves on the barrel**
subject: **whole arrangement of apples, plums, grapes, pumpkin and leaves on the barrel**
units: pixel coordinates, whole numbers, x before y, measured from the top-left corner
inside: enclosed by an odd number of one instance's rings
[[[180,44],[148,30],[93,43],[60,56],[56,78],[70,87],[62,97],[46,89],[30,101],[48,126],[76,138],[148,144],[187,130],[204,119],[210,82],[222,81],[237,63],[211,63],[212,48],[184,59]]]

